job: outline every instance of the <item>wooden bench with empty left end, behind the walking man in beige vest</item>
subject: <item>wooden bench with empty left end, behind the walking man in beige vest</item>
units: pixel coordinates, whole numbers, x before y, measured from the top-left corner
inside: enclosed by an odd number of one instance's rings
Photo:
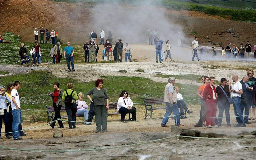
[[[166,109],[166,107],[152,107],[152,104],[165,104],[164,102],[164,98],[143,98],[144,103],[145,103],[145,108],[146,108],[146,113],[145,113],[145,118],[150,116],[150,119],[152,119],[152,113],[153,110],[157,110],[157,109]],[[150,114],[147,114],[148,111],[150,111]],[[185,116],[186,116],[186,112],[184,112]]]

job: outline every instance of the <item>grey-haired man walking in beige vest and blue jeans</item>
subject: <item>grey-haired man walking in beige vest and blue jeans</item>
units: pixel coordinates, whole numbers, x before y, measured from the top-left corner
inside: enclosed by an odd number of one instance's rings
[[[161,123],[161,127],[168,127],[166,123],[168,122],[169,116],[173,112],[174,114],[174,121],[175,126],[181,127],[184,126],[183,124],[180,124],[180,116],[178,104],[177,104],[177,92],[175,87],[173,86],[175,84],[175,78],[169,77],[168,84],[164,88],[164,102],[166,103],[166,113],[164,114],[163,121]]]

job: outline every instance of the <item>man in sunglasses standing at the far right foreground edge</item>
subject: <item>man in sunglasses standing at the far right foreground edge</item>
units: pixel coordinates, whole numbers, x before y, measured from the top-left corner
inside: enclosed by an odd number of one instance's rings
[[[256,85],[256,78],[255,77],[253,77],[253,75],[254,75],[254,72],[253,72],[253,70],[248,70],[247,71],[247,75],[248,75],[248,77],[249,77],[249,81],[247,82],[248,84],[249,84],[249,86],[250,87],[252,87],[253,88],[253,86],[254,85]],[[253,89],[253,91],[255,91],[256,90],[256,88],[255,89]],[[251,92],[249,92],[248,93],[248,102],[249,102],[249,104],[250,104],[250,109],[249,109],[249,117],[248,117],[248,119],[249,120],[255,120],[256,121],[256,118],[255,118],[255,103],[253,103],[253,91],[251,91]],[[251,118],[251,107],[252,107],[252,118]]]

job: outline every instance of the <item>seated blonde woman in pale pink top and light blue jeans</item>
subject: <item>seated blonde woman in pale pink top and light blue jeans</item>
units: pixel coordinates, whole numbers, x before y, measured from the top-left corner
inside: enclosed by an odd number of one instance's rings
[[[91,125],[91,123],[88,123],[88,105],[86,102],[83,100],[84,94],[83,92],[80,92],[78,94],[78,100],[76,101],[77,103],[77,115],[78,116],[84,116],[84,124],[85,125]]]

